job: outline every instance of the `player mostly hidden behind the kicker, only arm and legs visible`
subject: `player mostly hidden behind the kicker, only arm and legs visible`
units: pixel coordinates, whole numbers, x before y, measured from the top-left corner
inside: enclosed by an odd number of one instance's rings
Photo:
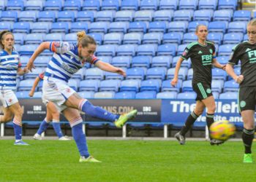
[[[39,74],[37,78],[34,80],[33,87],[31,88],[29,92],[29,96],[33,97],[34,96],[34,91],[36,90],[37,84],[43,80],[45,75],[45,72],[42,74]],[[42,132],[45,132],[47,127],[49,126],[50,122],[53,121],[53,129],[56,132],[56,135],[59,137],[59,141],[70,141],[69,138],[63,135],[61,132],[61,124],[59,123],[59,111],[57,110],[56,106],[54,106],[53,103],[49,102],[48,105],[46,106],[46,117],[40,124],[39,129],[37,130],[37,133],[34,134],[34,140],[42,140]]]

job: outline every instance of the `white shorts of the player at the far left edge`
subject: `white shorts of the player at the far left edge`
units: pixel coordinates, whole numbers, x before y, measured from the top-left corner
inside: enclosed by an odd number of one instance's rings
[[[0,100],[5,108],[18,103],[18,98],[12,90],[0,90]]]

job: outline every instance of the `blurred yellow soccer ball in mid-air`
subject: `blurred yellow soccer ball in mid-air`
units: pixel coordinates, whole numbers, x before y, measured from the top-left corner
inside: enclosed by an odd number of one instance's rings
[[[219,122],[214,122],[210,127],[211,138],[217,139],[219,141],[227,141],[231,135],[236,131],[234,124],[228,122],[227,120],[222,120]]]

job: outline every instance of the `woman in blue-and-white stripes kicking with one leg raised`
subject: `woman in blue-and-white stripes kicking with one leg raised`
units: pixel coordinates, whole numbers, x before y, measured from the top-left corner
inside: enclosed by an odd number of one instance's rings
[[[42,86],[42,100],[45,103],[53,102],[72,127],[72,135],[80,152],[80,162],[99,162],[91,157],[86,144],[86,137],[82,130],[82,118],[79,111],[83,111],[89,116],[114,122],[116,127],[121,127],[128,119],[132,119],[137,114],[137,110],[130,111],[128,114],[116,115],[98,106],[93,106],[89,100],[80,98],[75,90],[67,85],[68,80],[85,63],[94,64],[103,71],[110,71],[126,76],[121,68],[116,68],[108,63],[104,63],[94,56],[97,44],[84,31],[78,32],[78,43],[69,44],[64,41],[43,42],[31,56],[27,68],[34,68],[34,60],[43,50],[55,52],[53,58],[48,63],[45,71]]]

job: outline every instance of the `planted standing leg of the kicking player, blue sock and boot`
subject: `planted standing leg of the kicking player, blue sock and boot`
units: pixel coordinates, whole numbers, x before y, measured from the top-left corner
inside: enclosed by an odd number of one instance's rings
[[[64,111],[62,111],[62,113],[72,127],[72,135],[80,153],[80,162],[99,162],[89,154],[86,143],[86,135],[83,133],[83,120],[79,114],[79,111],[75,108],[66,108]]]

